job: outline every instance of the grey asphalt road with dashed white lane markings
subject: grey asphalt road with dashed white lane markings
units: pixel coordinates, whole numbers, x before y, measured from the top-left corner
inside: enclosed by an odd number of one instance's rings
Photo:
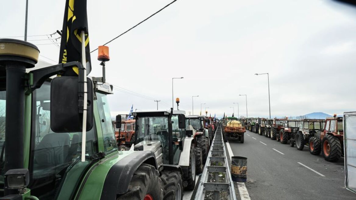
[[[310,154],[307,147],[299,151],[250,131],[243,144],[229,144],[234,156],[247,157],[245,185],[252,200],[356,199],[356,194],[345,189],[344,158],[331,163],[321,154]]]

